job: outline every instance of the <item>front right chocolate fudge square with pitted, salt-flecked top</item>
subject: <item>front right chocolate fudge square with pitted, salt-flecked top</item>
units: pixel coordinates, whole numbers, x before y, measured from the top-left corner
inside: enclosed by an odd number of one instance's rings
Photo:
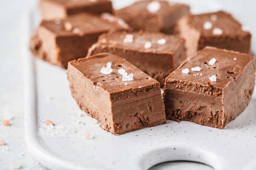
[[[166,77],[167,119],[224,128],[248,105],[255,71],[251,55],[205,47]]]

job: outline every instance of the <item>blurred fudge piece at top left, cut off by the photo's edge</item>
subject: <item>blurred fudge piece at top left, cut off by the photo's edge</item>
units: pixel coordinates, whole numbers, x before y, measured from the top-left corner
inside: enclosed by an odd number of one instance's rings
[[[39,6],[44,20],[66,18],[81,12],[96,15],[112,13],[110,0],[40,0]]]

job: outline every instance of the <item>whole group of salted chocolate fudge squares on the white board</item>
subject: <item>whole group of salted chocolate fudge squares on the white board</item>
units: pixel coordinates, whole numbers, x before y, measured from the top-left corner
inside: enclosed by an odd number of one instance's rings
[[[167,119],[222,129],[254,91],[251,34],[225,11],[189,10],[167,0],[118,10],[110,0],[40,0],[30,49],[67,68],[79,107],[114,135]]]

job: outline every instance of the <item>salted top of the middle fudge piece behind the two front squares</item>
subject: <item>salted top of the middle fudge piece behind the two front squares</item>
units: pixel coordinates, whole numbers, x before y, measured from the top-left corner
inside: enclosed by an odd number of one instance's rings
[[[110,32],[99,37],[97,44],[153,53],[172,53],[184,40],[176,35],[153,32]],[[93,46],[92,46],[93,48]]]

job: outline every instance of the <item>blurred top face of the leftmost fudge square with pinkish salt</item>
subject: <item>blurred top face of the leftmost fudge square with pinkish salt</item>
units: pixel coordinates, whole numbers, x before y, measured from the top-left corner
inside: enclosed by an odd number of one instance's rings
[[[123,23],[109,22],[98,15],[79,13],[65,19],[43,20],[40,26],[44,26],[56,35],[84,35],[107,32],[109,30],[125,29]]]

